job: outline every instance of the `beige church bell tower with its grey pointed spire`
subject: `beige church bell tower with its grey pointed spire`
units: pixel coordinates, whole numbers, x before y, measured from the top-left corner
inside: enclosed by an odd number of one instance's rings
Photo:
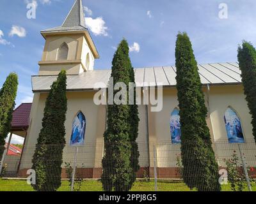
[[[86,28],[82,0],[76,0],[63,24],[41,31],[45,38],[39,75],[58,75],[65,69],[68,75],[93,70],[99,53]]]

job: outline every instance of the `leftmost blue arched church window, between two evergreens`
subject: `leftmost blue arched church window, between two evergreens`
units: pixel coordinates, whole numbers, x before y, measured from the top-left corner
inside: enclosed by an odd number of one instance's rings
[[[86,129],[86,119],[82,112],[77,113],[72,122],[70,145],[83,145]]]

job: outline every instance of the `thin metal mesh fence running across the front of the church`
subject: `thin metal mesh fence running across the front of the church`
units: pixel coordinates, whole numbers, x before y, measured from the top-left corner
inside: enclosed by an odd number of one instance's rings
[[[243,176],[241,178],[243,178],[244,190],[256,191],[253,180],[256,179],[256,145],[254,141],[246,141],[246,143],[218,141],[212,143],[212,148],[220,170],[220,181],[221,178],[226,179],[228,161],[233,161],[235,158],[237,173]],[[136,166],[137,161],[136,149],[130,143],[122,145],[118,143],[65,145],[62,154],[59,145],[44,145],[40,150],[45,154],[33,159],[35,149],[35,146],[25,146],[19,156],[9,156],[6,154],[6,149],[0,150],[0,152],[4,151],[0,163],[0,191],[35,191],[36,187],[33,186],[33,182],[46,183],[37,189],[42,191],[56,189],[58,191],[102,191],[102,179],[105,180],[105,185],[110,186],[109,189],[116,187],[116,190],[122,191],[125,189],[122,186],[129,186],[127,176],[131,175],[132,167]],[[138,151],[140,152],[138,157],[140,169],[136,172],[136,182],[131,191],[191,191],[184,184],[182,178],[183,166],[179,144],[138,142]],[[132,153],[133,159],[131,159]],[[104,156],[107,156],[107,159],[104,163],[105,172],[102,175],[102,158]],[[122,162],[127,157],[130,158],[128,163]],[[33,163],[41,165],[42,168],[36,168],[34,171]],[[56,167],[58,164],[61,164],[61,168]],[[197,171],[202,170],[198,169]],[[191,171],[189,177],[195,177],[198,172]],[[60,179],[61,183],[58,183]],[[115,184],[111,183],[113,179]],[[200,177],[196,179],[200,179]],[[223,183],[225,185],[222,185],[221,189],[230,191],[230,183]],[[117,189],[117,186],[121,186],[121,188]]]

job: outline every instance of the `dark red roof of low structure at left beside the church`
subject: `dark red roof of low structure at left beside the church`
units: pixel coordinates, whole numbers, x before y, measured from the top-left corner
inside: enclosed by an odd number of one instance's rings
[[[32,103],[22,103],[12,113],[12,128],[28,128]]]

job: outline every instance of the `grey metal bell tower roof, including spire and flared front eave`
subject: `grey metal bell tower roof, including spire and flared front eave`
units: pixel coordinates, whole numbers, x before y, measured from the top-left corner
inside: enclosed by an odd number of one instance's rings
[[[83,4],[82,0],[76,0],[61,26],[46,29],[41,31],[41,33],[81,30],[87,30],[84,21]]]

